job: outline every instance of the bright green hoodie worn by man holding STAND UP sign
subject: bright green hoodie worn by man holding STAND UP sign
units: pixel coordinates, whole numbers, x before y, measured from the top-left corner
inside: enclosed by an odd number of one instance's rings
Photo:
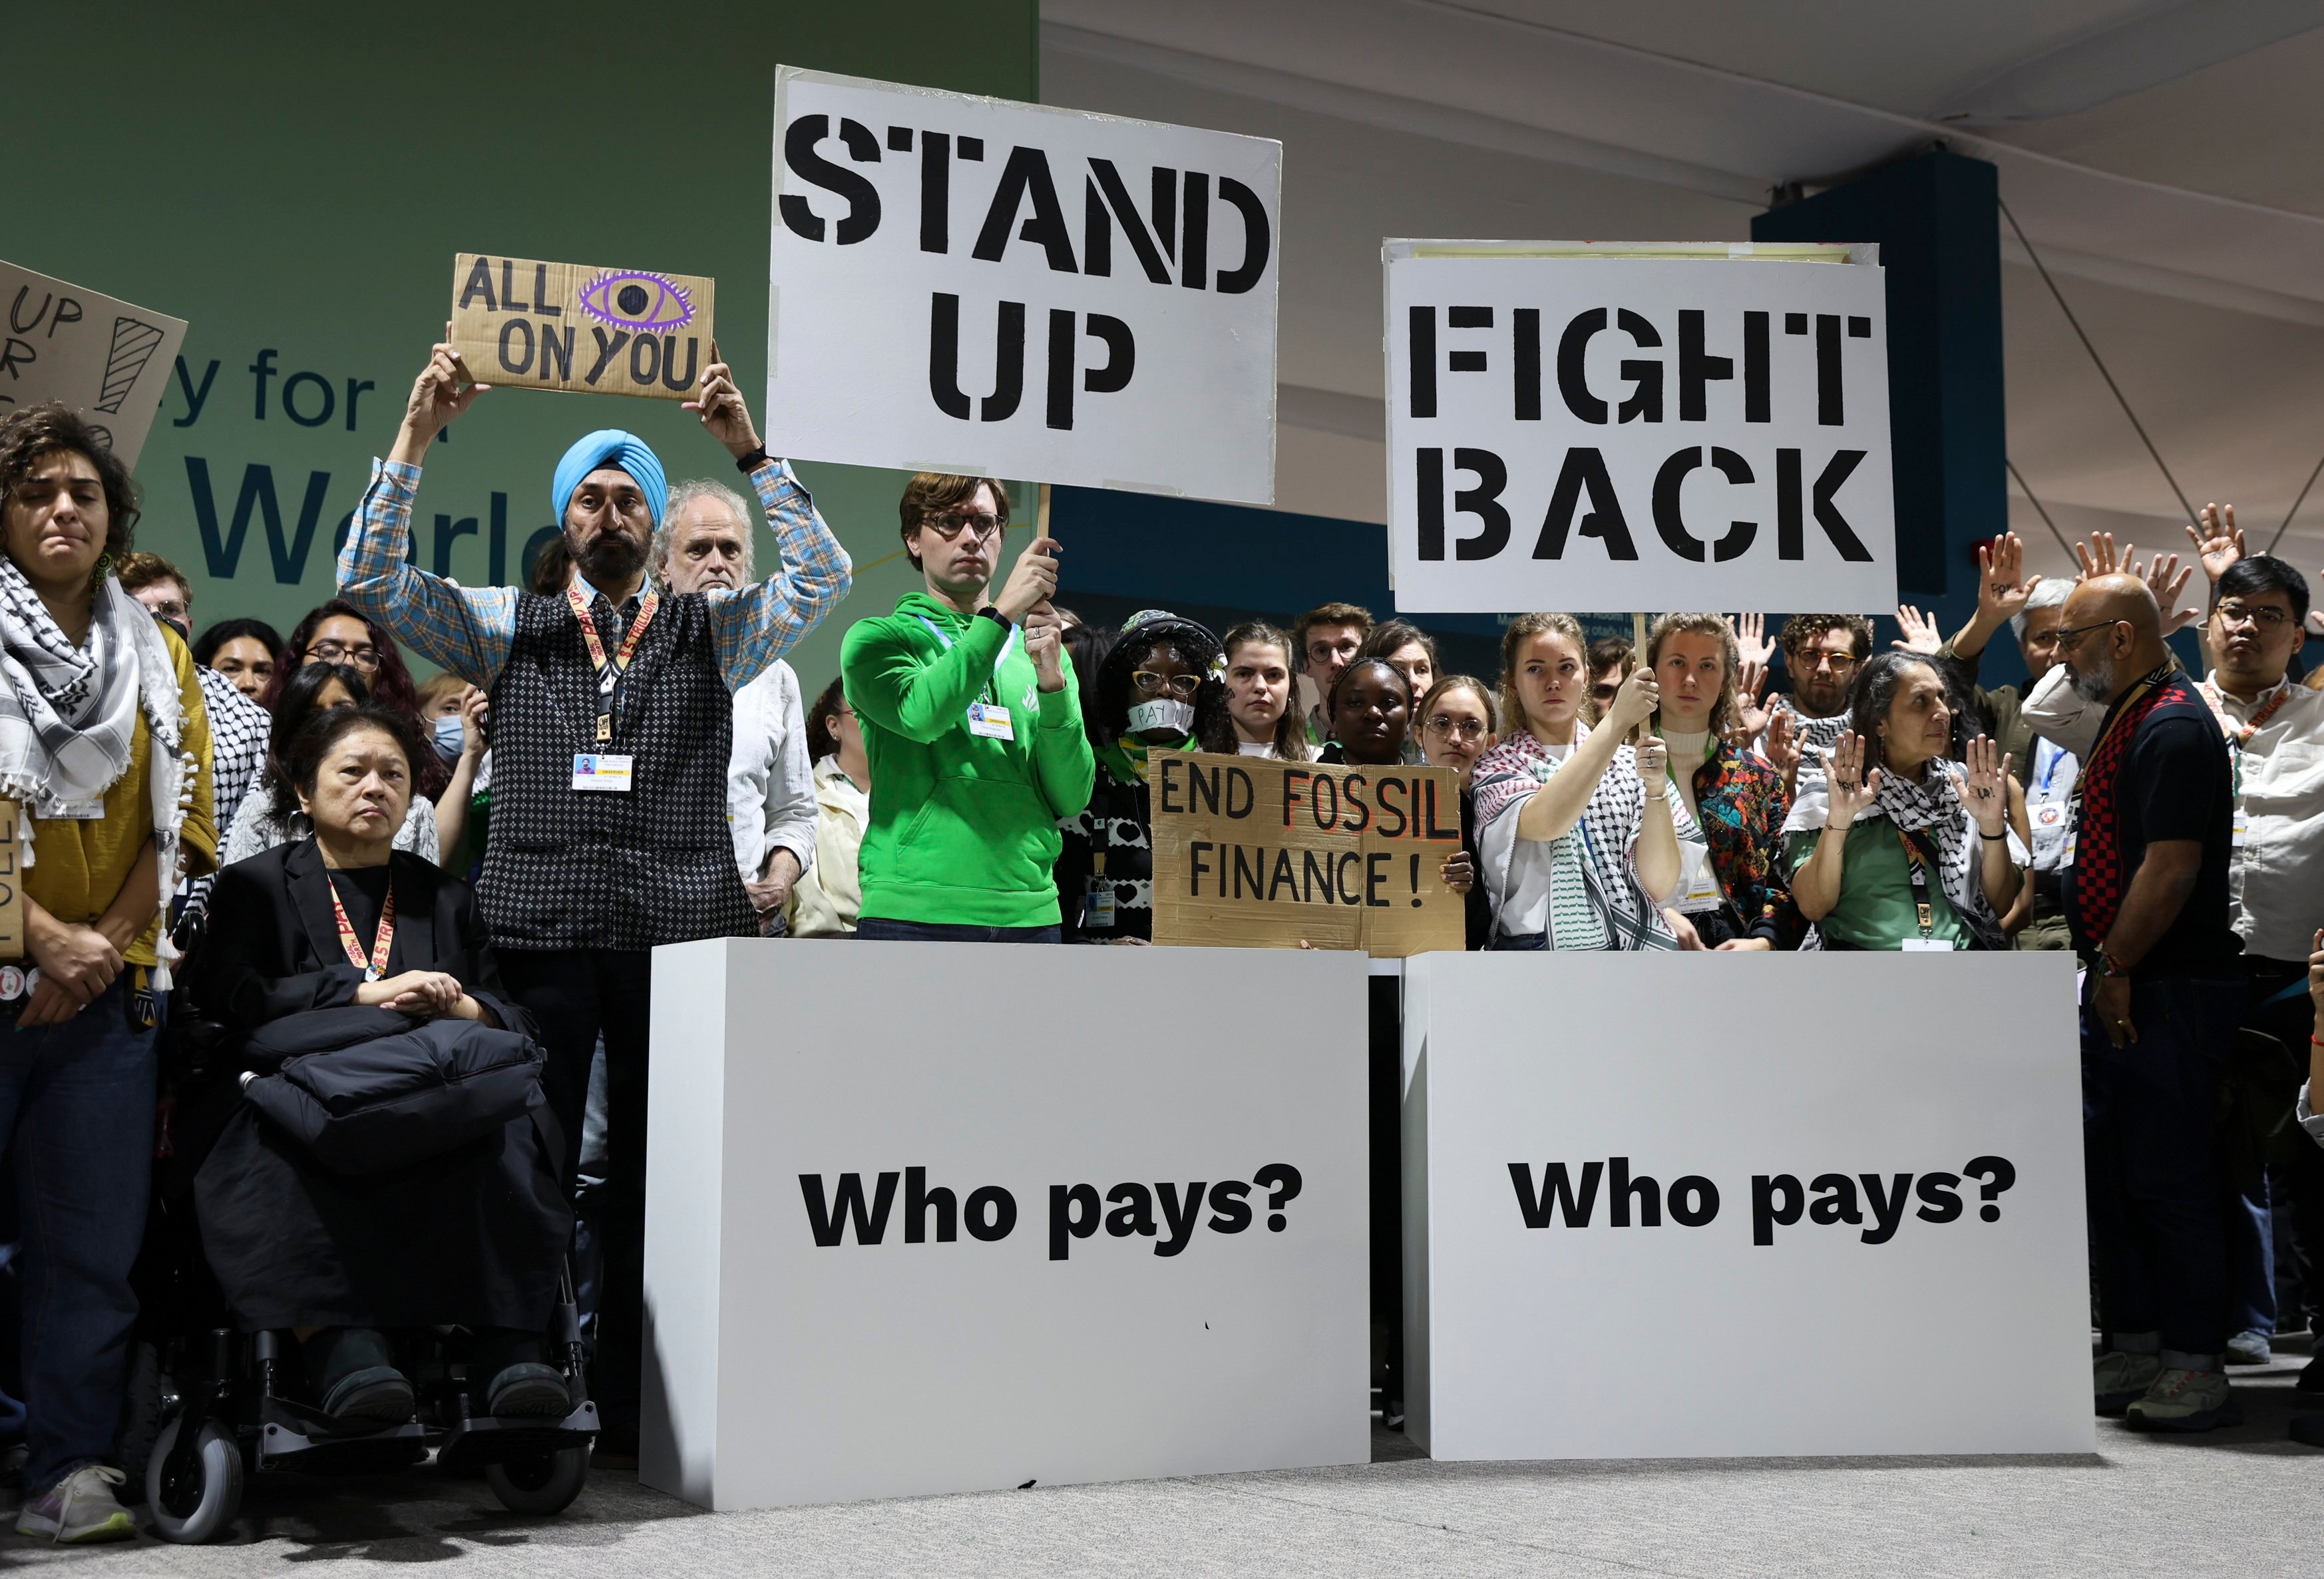
[[[1057,926],[1057,819],[1090,805],[1097,772],[1074,660],[1062,691],[1041,691],[1016,633],[906,593],[848,630],[839,674],[871,763],[862,914]],[[976,700],[1006,707],[1016,740],[971,735]]]

